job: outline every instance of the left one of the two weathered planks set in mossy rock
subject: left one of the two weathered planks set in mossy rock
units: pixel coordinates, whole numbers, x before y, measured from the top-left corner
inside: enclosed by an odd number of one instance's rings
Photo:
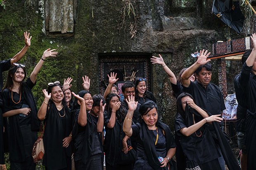
[[[61,0],[50,0],[50,17],[49,17],[49,25],[50,32],[61,32],[62,31],[62,20],[61,20],[61,8],[62,3]]]

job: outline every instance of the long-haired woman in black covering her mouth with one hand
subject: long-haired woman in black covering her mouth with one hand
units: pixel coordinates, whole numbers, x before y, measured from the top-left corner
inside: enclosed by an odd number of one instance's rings
[[[132,164],[122,165],[117,161],[122,149],[126,148],[123,146],[123,141],[131,146],[130,139],[123,132],[123,121],[127,114],[126,106],[121,104],[119,96],[115,93],[107,95],[106,104],[104,112],[106,135],[103,145],[106,170],[132,170]]]

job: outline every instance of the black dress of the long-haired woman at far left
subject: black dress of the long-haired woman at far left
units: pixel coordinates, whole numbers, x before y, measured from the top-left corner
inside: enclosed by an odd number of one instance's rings
[[[23,83],[24,93],[21,93],[21,95],[11,92],[7,88],[2,91],[2,110],[4,113],[14,109],[21,109],[22,105],[28,105],[31,108],[31,112],[26,117],[19,116],[19,114],[9,117],[11,170],[34,170],[36,168],[36,164],[33,163],[31,156],[40,127],[40,121],[37,118],[36,102],[31,91],[35,84],[31,82],[30,78]]]

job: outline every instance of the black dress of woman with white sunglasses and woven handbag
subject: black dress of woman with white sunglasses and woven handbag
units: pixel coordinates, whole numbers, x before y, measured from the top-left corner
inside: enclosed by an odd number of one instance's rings
[[[43,136],[43,165],[46,170],[71,170],[72,143],[70,142],[68,147],[63,147],[63,139],[68,137],[72,130],[71,110],[64,106],[58,111],[54,102],[48,108]]]

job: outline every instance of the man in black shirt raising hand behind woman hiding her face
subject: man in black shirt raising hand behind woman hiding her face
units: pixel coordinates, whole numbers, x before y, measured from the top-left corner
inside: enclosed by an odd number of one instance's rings
[[[190,93],[194,97],[194,102],[199,107],[206,109],[211,114],[220,114],[222,116],[222,112],[226,107],[220,88],[211,83],[212,69],[211,64],[208,63],[211,60],[207,60],[209,55],[210,53],[207,54],[207,50],[205,52],[204,50],[200,51],[200,56],[198,57],[197,62],[185,70],[181,76],[181,81],[184,91]],[[197,77],[197,81],[195,82],[191,82],[189,79],[193,74]],[[222,123],[223,121],[219,123],[220,126],[222,126]],[[211,130],[211,132],[214,131],[212,125],[209,126],[209,130]],[[223,156],[218,158],[218,160],[221,169],[225,170]]]

